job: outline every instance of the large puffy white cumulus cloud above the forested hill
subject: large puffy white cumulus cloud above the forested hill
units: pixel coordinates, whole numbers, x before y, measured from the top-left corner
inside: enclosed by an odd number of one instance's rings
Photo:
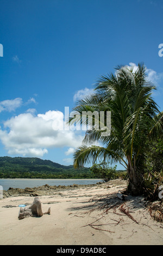
[[[4,121],[4,129],[0,129],[1,142],[9,154],[23,156],[43,156],[49,148],[79,147],[83,136],[77,131],[62,130],[59,125],[63,117],[60,111],[12,117]]]

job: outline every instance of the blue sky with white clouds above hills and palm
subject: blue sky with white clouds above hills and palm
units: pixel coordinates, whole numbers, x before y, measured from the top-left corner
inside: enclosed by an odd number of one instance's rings
[[[82,131],[57,131],[65,107],[117,65],[145,63],[162,111],[162,0],[1,0],[0,155],[72,164]],[[162,51],[163,52],[163,51]],[[121,167],[120,167],[121,168]]]

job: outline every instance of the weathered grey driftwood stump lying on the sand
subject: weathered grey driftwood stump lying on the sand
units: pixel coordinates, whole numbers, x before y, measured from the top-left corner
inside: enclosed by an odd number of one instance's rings
[[[35,197],[33,203],[26,207],[21,207],[20,211],[18,212],[18,219],[22,220],[28,216],[32,217],[41,217],[43,214],[50,214],[51,208],[48,208],[47,212],[42,212],[41,202],[39,197]]]

